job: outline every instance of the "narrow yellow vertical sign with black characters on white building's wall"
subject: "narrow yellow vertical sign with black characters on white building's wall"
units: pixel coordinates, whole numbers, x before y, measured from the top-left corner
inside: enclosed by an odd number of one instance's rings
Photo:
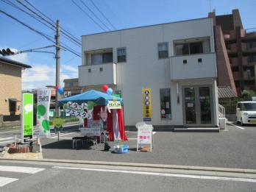
[[[152,90],[151,88],[142,89],[143,101],[143,121],[152,120]]]

